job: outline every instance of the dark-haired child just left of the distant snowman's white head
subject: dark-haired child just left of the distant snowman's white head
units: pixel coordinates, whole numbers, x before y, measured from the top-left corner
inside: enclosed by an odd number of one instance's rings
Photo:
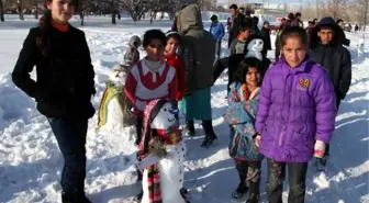
[[[241,23],[239,27],[239,33],[237,38],[235,38],[230,46],[230,55],[235,55],[235,54],[244,54],[245,53],[245,45],[246,41],[251,34],[251,24],[243,22]]]

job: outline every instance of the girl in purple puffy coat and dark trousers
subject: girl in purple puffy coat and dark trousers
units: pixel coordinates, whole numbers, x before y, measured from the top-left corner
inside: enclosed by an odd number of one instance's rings
[[[261,84],[256,145],[267,157],[269,203],[282,203],[284,169],[289,203],[303,203],[308,162],[322,157],[335,128],[335,92],[325,70],[306,55],[308,34],[287,27],[282,56]],[[316,142],[315,142],[316,140]]]

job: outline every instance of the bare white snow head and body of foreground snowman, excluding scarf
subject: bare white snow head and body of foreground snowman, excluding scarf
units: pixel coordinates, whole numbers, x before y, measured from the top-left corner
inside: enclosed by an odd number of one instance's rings
[[[169,129],[172,126],[177,126],[178,121],[170,111],[172,111],[171,104],[169,102],[164,104],[158,115],[150,124],[153,135],[155,135],[158,129]],[[178,136],[181,137],[180,133],[175,137]],[[174,140],[172,137],[170,139]],[[178,142],[175,144],[164,146],[167,154],[157,162],[163,203],[186,203],[180,190],[183,188],[185,181],[183,162],[186,160],[187,147],[183,139],[180,138],[177,140]],[[148,203],[149,192],[147,169],[145,169],[143,173],[143,191],[144,195],[142,203]]]

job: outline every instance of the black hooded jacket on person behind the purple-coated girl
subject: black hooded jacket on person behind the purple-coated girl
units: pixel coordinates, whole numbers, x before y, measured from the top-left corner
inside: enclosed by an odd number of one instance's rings
[[[329,26],[335,31],[333,41],[327,45],[321,44],[317,36],[317,31],[322,25]],[[335,88],[337,102],[345,99],[351,84],[351,56],[343,46],[345,41],[343,30],[332,18],[322,19],[310,35],[310,56],[327,70]]]

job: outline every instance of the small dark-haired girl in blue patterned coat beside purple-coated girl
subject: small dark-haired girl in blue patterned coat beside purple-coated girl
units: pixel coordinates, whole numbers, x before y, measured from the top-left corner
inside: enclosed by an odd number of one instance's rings
[[[239,63],[234,75],[234,82],[228,93],[228,110],[225,120],[230,123],[231,131],[230,155],[235,160],[239,176],[238,188],[232,196],[241,199],[249,184],[249,198],[246,203],[259,201],[260,168],[262,155],[254,143],[254,122],[257,103],[259,101],[259,87],[261,83],[261,61],[255,57],[248,57]]]

